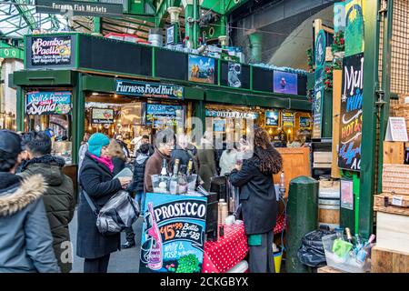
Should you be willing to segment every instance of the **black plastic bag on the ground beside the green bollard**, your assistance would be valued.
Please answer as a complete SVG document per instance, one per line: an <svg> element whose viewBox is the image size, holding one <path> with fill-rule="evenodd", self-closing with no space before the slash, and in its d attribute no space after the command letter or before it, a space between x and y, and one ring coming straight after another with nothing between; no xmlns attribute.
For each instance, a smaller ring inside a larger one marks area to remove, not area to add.
<svg viewBox="0 0 409 291"><path fill-rule="evenodd" d="M300 262L312 267L325 266L326 259L322 238L334 233L334 231L319 229L303 236L302 245L297 253Z"/></svg>

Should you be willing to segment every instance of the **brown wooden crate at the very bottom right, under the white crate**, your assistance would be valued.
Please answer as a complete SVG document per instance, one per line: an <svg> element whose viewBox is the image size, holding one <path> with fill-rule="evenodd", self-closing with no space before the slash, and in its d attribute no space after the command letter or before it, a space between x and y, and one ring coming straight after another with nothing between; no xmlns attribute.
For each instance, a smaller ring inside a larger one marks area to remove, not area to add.
<svg viewBox="0 0 409 291"><path fill-rule="evenodd" d="M371 254L371 272L409 273L409 253L374 246Z"/></svg>

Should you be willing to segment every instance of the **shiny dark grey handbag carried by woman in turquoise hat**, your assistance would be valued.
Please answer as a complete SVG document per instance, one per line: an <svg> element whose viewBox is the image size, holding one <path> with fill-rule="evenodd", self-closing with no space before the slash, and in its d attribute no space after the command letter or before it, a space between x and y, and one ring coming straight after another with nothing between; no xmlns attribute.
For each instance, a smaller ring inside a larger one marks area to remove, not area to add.
<svg viewBox="0 0 409 291"><path fill-rule="evenodd" d="M96 216L96 227L104 236L113 236L131 227L140 214L138 203L125 190L118 191L97 210L95 203L83 190L85 200Z"/></svg>

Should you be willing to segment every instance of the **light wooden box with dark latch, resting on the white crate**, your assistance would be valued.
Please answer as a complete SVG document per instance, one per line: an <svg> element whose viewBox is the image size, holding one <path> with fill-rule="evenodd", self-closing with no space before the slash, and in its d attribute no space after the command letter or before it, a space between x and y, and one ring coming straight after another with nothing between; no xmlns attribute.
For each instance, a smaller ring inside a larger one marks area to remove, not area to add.
<svg viewBox="0 0 409 291"><path fill-rule="evenodd" d="M374 196L374 211L409 216L409 196L383 193Z"/></svg>

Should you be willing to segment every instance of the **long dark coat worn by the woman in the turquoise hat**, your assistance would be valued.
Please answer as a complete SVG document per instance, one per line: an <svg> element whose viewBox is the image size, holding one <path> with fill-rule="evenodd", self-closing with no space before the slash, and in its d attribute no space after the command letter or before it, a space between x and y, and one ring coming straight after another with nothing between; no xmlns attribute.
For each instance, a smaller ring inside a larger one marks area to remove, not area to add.
<svg viewBox="0 0 409 291"><path fill-rule="evenodd" d="M122 189L119 180L113 180L113 177L105 165L95 161L89 153L85 154L80 183L98 209L101 209L116 192ZM76 255L97 258L113 253L120 247L120 234L114 236L100 234L96 228L96 216L86 202L84 194L81 193L78 206Z"/></svg>

